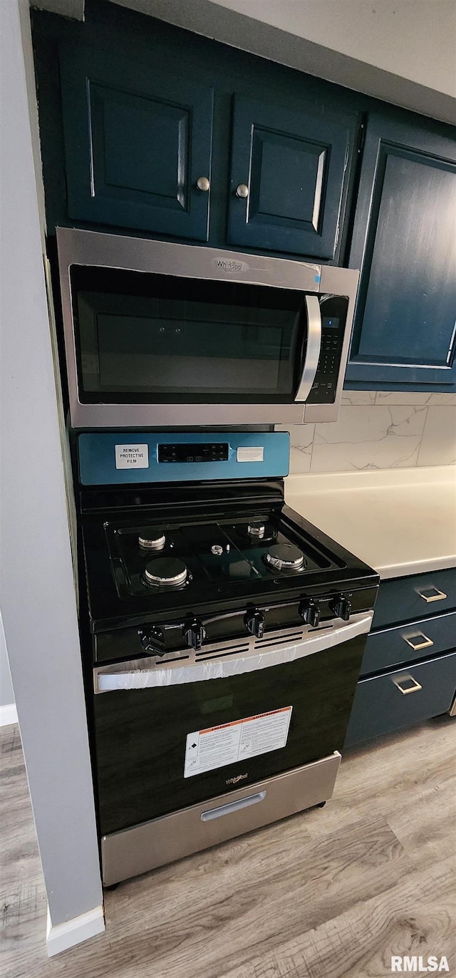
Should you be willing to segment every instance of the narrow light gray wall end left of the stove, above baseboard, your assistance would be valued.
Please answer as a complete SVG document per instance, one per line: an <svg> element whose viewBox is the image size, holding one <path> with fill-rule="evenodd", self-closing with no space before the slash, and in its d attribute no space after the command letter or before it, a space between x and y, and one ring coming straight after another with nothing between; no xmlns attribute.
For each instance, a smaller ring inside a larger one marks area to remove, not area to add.
<svg viewBox="0 0 456 978"><path fill-rule="evenodd" d="M57 925L99 907L102 890L33 166L35 105L34 151L28 114L27 0L2 0L0 17L0 607Z"/></svg>

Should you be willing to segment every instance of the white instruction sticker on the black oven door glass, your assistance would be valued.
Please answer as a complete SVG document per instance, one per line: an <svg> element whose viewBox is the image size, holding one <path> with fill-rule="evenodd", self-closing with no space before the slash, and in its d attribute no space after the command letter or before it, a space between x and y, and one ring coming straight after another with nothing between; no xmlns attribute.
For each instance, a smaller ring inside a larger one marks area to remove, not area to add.
<svg viewBox="0 0 456 978"><path fill-rule="evenodd" d="M285 747L293 706L187 735L184 778Z"/></svg>

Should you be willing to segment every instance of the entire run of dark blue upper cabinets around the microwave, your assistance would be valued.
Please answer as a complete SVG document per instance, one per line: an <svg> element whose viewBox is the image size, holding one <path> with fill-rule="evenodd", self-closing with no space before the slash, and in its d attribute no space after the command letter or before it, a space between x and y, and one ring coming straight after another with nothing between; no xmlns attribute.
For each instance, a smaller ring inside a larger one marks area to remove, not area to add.
<svg viewBox="0 0 456 978"><path fill-rule="evenodd" d="M51 238L360 268L345 386L456 391L450 126L100 0L32 25Z"/></svg>

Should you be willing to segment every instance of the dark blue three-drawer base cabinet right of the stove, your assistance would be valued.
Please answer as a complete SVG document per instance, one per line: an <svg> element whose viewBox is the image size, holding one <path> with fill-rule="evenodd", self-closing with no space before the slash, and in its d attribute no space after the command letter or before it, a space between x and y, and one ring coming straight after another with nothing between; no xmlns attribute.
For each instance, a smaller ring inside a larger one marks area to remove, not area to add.
<svg viewBox="0 0 456 978"><path fill-rule="evenodd" d="M382 583L345 746L448 712L455 689L456 569Z"/></svg>

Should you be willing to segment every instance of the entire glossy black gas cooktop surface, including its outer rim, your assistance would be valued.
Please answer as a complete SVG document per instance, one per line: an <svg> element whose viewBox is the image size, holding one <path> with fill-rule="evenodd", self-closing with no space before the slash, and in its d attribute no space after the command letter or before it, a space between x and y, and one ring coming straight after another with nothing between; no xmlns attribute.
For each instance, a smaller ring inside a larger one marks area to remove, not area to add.
<svg viewBox="0 0 456 978"><path fill-rule="evenodd" d="M149 489L86 495L92 632L372 584L370 567L286 505L283 483L254 488L199 487L198 502L182 487L166 499Z"/></svg>

